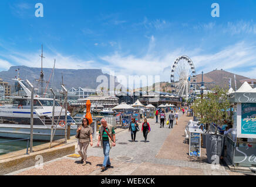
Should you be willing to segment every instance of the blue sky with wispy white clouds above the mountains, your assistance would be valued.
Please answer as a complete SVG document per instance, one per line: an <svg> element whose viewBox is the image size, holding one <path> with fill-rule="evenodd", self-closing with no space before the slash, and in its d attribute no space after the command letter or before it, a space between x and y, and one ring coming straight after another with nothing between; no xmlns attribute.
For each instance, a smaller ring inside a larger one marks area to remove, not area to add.
<svg viewBox="0 0 256 187"><path fill-rule="evenodd" d="M35 4L43 4L43 18ZM211 17L211 4L220 18ZM11 65L101 68L169 81L178 56L196 71L256 78L256 1L1 0L0 71Z"/></svg>

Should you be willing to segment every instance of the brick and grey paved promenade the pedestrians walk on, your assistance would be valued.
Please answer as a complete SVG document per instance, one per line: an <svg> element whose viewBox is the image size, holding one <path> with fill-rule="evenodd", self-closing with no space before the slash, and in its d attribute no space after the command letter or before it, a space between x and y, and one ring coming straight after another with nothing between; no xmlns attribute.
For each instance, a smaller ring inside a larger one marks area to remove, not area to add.
<svg viewBox="0 0 256 187"><path fill-rule="evenodd" d="M212 169L206 161L205 149L201 150L201 158L188 156L188 144L183 140L184 126L189 119L191 117L180 116L173 129L166 124L160 128L155 119L148 119L151 132L146 143L141 131L137 132L135 142L130 141L128 130L120 131L116 134L116 147L110 151L112 167L105 172L100 171L103 150L95 142L87 150L86 165L77 164L80 158L63 157L45 163L43 169L32 167L12 175L240 175L222 165Z"/></svg>

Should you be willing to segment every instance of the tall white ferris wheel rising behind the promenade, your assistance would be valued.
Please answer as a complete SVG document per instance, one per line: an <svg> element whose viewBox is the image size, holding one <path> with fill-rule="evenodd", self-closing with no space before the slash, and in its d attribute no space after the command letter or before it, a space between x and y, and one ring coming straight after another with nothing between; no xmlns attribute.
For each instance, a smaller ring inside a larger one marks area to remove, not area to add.
<svg viewBox="0 0 256 187"><path fill-rule="evenodd" d="M171 66L171 88L178 96L186 97L196 90L196 69L193 61L187 56L181 56Z"/></svg>

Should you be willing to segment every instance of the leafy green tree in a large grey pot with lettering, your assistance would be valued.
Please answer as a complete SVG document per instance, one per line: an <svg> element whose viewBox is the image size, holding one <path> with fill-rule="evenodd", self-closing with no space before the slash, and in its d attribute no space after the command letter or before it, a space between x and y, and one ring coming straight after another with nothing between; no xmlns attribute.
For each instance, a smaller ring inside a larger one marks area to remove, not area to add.
<svg viewBox="0 0 256 187"><path fill-rule="evenodd" d="M204 143L209 163L221 157L224 138L217 133L217 127L222 126L224 120L228 119L230 103L226 93L225 89L215 87L212 93L207 93L203 99L197 99L193 105L194 113L200 116L201 123L207 124ZM215 132L209 133L209 126L212 124L215 124Z"/></svg>

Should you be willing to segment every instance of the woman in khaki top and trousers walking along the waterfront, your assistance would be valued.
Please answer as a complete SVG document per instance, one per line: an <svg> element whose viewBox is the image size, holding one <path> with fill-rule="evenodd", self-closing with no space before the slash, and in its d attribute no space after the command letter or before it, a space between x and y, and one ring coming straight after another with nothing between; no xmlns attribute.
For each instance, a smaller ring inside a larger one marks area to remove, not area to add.
<svg viewBox="0 0 256 187"><path fill-rule="evenodd" d="M76 130L76 137L79 138L78 140L78 153L81 156L80 164L83 164L83 161L85 161L86 164L86 158L87 158L87 148L90 144L90 146L93 145L92 143L92 127L89 126L89 120L87 118L83 118L82 124L78 127L78 130Z"/></svg>

